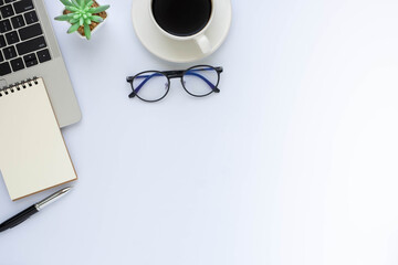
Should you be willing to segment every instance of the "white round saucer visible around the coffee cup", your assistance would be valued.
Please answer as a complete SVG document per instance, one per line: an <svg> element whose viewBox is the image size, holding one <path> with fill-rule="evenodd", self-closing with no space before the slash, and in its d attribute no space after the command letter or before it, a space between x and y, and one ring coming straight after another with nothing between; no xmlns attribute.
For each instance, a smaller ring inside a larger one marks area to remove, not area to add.
<svg viewBox="0 0 398 265"><path fill-rule="evenodd" d="M161 34L150 19L150 0L133 2L133 25L143 45L163 60L174 63L201 60L216 52L228 35L232 18L231 0L213 1L213 10L217 13L214 13L212 24L206 31L206 35L212 44L212 50L208 54L202 54L195 41L176 41Z"/></svg>

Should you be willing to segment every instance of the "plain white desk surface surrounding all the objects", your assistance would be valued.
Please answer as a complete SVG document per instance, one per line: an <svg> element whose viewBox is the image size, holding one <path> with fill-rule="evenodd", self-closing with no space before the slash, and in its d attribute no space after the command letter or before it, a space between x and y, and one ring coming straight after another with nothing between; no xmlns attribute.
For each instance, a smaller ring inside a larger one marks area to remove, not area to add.
<svg viewBox="0 0 398 265"><path fill-rule="evenodd" d="M46 0L51 17L59 1ZM128 99L149 54L112 4L91 42L53 22L83 112L72 193L0 235L0 264L398 263L398 2L232 0L221 93ZM53 191L53 190L52 190ZM51 191L11 202L0 220Z"/></svg>

